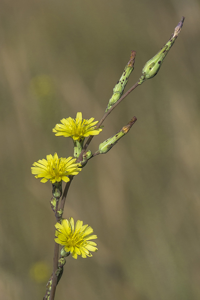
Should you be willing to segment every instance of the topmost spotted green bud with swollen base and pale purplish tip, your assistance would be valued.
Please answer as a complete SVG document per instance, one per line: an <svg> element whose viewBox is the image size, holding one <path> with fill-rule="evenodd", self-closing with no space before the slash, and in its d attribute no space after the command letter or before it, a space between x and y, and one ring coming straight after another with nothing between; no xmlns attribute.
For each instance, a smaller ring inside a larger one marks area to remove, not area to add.
<svg viewBox="0 0 200 300"><path fill-rule="evenodd" d="M142 76L139 79L138 84L142 84L145 80L153 78L158 73L165 56L167 55L171 46L174 44L176 38L178 37L178 33L181 31L184 19L184 17L181 18L181 21L176 26L175 31L172 34L170 40L161 48L161 50L152 59L146 62L142 69Z"/></svg>

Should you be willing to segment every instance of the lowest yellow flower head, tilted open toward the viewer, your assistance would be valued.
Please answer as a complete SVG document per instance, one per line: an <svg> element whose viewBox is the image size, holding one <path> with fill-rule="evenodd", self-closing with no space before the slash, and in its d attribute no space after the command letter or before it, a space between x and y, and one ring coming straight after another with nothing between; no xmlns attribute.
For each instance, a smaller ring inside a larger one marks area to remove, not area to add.
<svg viewBox="0 0 200 300"><path fill-rule="evenodd" d="M91 234L93 229L88 225L83 225L83 221L78 220L74 228L74 219L69 218L56 223L55 242L64 246L65 252L71 252L72 257L77 259L78 255L83 258L92 256L89 251L96 252L97 244L90 239L97 238L95 234Z"/></svg>

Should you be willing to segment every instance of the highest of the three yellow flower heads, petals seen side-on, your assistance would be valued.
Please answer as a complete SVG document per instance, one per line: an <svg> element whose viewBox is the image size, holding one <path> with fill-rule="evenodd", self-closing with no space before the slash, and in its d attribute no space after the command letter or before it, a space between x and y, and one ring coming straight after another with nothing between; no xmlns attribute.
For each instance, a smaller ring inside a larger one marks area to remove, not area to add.
<svg viewBox="0 0 200 300"><path fill-rule="evenodd" d="M73 140L78 140L81 137L89 137L89 135L97 135L102 129L95 129L96 126L94 125L99 121L93 121L94 118L90 118L89 120L83 119L82 122L82 113L77 113L76 119L69 117L60 120L62 124L56 124L53 132L56 132L56 136L63 135L64 137L71 137Z"/></svg>

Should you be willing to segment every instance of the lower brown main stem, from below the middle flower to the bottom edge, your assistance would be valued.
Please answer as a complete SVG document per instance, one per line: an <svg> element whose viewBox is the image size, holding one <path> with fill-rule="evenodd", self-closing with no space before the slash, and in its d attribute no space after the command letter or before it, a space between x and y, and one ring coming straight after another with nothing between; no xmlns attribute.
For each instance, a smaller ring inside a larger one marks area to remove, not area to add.
<svg viewBox="0 0 200 300"><path fill-rule="evenodd" d="M74 178L73 175L69 176L69 181L65 185L65 189L64 189L64 192L62 194L62 199L61 199L61 202L60 202L60 208L62 210L64 208L67 193L68 193L68 190L69 190L69 187L70 187L70 184L71 184L73 178ZM61 220L59 220L58 223L61 223ZM54 300L54 297L55 297L57 279L58 279L55 273L56 273L57 268L58 268L58 257L59 257L59 244L57 244L55 242L55 244L54 244L53 279L52 279L52 284L51 284L51 292L50 292L49 300Z"/></svg>

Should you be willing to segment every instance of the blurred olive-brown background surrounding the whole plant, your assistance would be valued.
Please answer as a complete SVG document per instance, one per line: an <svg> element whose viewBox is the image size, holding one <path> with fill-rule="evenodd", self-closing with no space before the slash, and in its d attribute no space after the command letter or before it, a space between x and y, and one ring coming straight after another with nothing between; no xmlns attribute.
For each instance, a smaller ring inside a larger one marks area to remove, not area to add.
<svg viewBox="0 0 200 300"><path fill-rule="evenodd" d="M200 2L1 0L0 299L42 299L53 267L50 182L34 161L73 155L60 119L100 120L136 50L135 69L181 33L157 76L109 115L89 149L137 122L71 184L64 217L97 234L92 258L67 258L55 299L200 298ZM125 90L125 91L126 91Z"/></svg>

